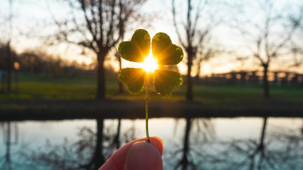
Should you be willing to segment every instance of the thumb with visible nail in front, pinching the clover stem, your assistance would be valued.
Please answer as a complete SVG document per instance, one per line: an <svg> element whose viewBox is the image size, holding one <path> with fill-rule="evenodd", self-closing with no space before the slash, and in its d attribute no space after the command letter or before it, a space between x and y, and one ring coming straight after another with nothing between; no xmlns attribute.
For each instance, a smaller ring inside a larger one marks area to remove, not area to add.
<svg viewBox="0 0 303 170"><path fill-rule="evenodd" d="M148 142L136 142L129 149L124 170L163 170L159 151Z"/></svg>

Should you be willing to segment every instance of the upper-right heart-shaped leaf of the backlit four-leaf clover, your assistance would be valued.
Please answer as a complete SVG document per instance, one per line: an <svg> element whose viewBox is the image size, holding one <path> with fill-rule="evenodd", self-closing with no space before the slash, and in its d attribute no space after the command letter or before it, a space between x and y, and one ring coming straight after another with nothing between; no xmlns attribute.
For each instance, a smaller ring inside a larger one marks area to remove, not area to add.
<svg viewBox="0 0 303 170"><path fill-rule="evenodd" d="M172 44L170 37L163 32L157 33L152 38L151 49L160 65L176 65L183 59L182 49Z"/></svg>

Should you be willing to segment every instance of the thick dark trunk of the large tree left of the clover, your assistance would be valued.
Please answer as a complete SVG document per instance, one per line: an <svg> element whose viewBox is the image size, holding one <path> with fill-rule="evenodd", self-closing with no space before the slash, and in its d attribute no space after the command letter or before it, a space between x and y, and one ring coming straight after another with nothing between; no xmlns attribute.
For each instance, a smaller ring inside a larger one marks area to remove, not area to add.
<svg viewBox="0 0 303 170"><path fill-rule="evenodd" d="M104 60L108 50L101 50L97 53L98 69L97 69L97 100L105 99L105 69Z"/></svg>

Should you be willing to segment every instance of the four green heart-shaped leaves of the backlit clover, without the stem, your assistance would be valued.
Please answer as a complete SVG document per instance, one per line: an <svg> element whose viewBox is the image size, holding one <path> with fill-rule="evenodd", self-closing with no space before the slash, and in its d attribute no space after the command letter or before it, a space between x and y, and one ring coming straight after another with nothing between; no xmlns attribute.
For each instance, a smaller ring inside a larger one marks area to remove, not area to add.
<svg viewBox="0 0 303 170"><path fill-rule="evenodd" d="M151 41L148 32L144 29L136 30L131 41L120 43L118 52L125 60L143 63L149 54L150 45L153 57L159 65L176 65L183 59L182 49L172 44L167 34L159 32ZM124 68L118 72L118 79L127 85L129 93L136 95L142 92L147 74L149 73L143 68ZM182 83L183 77L176 71L154 70L154 88L163 98L171 96L173 89L180 87Z"/></svg>

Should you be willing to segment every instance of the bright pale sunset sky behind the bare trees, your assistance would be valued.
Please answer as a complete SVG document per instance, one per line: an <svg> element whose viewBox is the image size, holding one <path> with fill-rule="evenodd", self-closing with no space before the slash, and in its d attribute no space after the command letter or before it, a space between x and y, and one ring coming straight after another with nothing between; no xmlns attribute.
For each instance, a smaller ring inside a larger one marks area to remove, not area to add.
<svg viewBox="0 0 303 170"><path fill-rule="evenodd" d="M251 1L248 0L221 0L224 2L224 5L216 5L215 8L209 8L204 13L201 18L203 20L198 22L198 28L205 28L210 21L208 18L208 14L211 11L216 11L217 14L220 14L222 18L224 18L217 27L211 30L211 42L212 44L218 45L218 47L224 48L226 51L233 51L233 54L236 53L241 54L243 56L249 54L247 50L247 44L245 40L243 40L241 34L238 30L231 28L233 24L233 14L234 9L231 8L233 4L244 4L245 16L247 18L253 18L254 20L261 21L264 19L264 16L256 14L256 9L254 5L248 5ZM54 55L60 55L62 58L68 60L76 60L79 63L85 62L87 64L96 60L96 57L89 53L86 55L82 55L82 49L70 45L70 44L58 44L56 46L49 47L43 41L41 41L41 37L45 34L50 34L57 30L56 26L53 25L52 15L54 14L55 18L62 18L62 16L66 15L68 11L67 5L62 5L60 1L53 0L14 0L12 11L13 11L13 29L12 31L12 45L15 47L15 50L21 53L25 49L43 49L48 51L48 53ZM178 21L184 21L186 15L186 5L185 1L176 0L176 10L178 14ZM8 0L0 0L0 23L3 23L5 17L8 16ZM222 3L223 4L223 3ZM227 5L226 5L227 4ZM303 3L299 0L279 0L276 1L275 11L296 11L297 7L302 5ZM196 3L193 1L193 8L195 8ZM274 12L275 12L274 11ZM175 32L175 28L173 26L172 14L171 14L171 1L170 0L148 0L145 5L141 8L140 12L145 13L147 16L155 15L151 19L151 27L145 27L144 25L136 25L136 28L131 28L125 35L125 41L129 40L135 31L135 29L143 28L146 29L151 38L157 32L165 32L171 37L173 44L177 44L180 46L180 43L177 38L177 34ZM82 14L77 14L81 17ZM238 14L236 14L238 15ZM221 18L220 16L220 18ZM46 26L45 26L46 25ZM244 25L243 25L244 27ZM0 31L2 32L3 37L4 34L8 34L8 26L6 24L2 24L0 26ZM273 26L272 31L279 31L278 27ZM252 28L247 27L248 30L252 31ZM301 34L302 35L302 34ZM1 40L1 39L0 39ZM3 38L2 38L3 41ZM299 40L300 41L300 40ZM208 44L207 44L208 45ZM251 45L251 44L249 44ZM254 45L254 44L252 44ZM184 49L183 49L184 50ZM254 58L251 60L245 61L236 61L235 55L222 53L217 57L203 63L200 76L212 74L212 73L224 73L233 70L261 70L259 67L258 60ZM186 54L185 54L186 57ZM285 55L285 57L281 57L279 60L276 60L272 65L270 65L271 70L297 70L302 72L301 68L292 68L286 67L285 61L291 60L292 56ZM108 63L114 65L116 69L118 69L118 62L114 60L109 60ZM288 64L291 65L291 64ZM132 67L134 64L123 61L123 67ZM181 74L186 74L186 59L178 64L178 68ZM193 68L192 75L194 76L195 68Z"/></svg>

